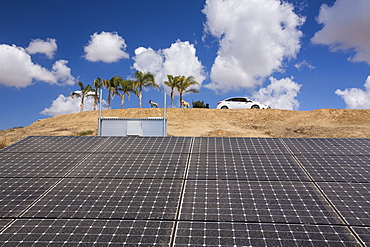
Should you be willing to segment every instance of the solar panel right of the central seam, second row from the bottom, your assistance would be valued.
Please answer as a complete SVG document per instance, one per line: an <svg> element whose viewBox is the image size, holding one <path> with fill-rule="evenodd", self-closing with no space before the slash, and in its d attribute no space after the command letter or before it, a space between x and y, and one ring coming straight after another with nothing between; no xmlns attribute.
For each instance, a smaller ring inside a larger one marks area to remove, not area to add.
<svg viewBox="0 0 370 247"><path fill-rule="evenodd" d="M181 220L341 224L310 183L187 181Z"/></svg>

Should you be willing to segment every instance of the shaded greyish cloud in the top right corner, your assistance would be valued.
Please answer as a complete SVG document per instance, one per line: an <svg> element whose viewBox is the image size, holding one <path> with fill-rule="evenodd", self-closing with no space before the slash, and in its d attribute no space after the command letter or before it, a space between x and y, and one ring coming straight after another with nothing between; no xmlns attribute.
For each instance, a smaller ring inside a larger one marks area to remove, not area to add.
<svg viewBox="0 0 370 247"><path fill-rule="evenodd" d="M355 52L349 60L370 64L370 1L337 0L323 4L317 21L324 27L311 41L330 46L332 51Z"/></svg>

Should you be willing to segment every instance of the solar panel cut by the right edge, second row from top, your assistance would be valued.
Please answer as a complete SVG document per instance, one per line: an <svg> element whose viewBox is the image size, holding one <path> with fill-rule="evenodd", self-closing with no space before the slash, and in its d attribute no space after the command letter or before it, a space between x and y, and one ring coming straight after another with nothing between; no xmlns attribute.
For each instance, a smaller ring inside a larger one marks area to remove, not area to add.
<svg viewBox="0 0 370 247"><path fill-rule="evenodd" d="M297 155L314 181L370 182L369 156Z"/></svg>

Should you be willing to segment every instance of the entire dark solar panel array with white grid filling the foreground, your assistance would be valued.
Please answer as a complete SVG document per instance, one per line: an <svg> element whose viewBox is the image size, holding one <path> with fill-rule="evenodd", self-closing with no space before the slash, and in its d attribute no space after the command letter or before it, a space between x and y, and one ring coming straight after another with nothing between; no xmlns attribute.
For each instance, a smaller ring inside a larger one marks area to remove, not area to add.
<svg viewBox="0 0 370 247"><path fill-rule="evenodd" d="M370 139L27 137L0 245L370 246Z"/></svg>

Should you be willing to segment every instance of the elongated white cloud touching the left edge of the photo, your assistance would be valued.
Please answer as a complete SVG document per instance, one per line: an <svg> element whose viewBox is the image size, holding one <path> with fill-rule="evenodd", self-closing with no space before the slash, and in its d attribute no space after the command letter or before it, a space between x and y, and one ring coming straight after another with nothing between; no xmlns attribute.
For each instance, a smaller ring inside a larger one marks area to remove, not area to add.
<svg viewBox="0 0 370 247"><path fill-rule="evenodd" d="M75 78L66 64L67 61L59 60L48 70L33 63L26 49L0 44L0 84L5 86L22 88L32 85L33 81L72 85Z"/></svg>

